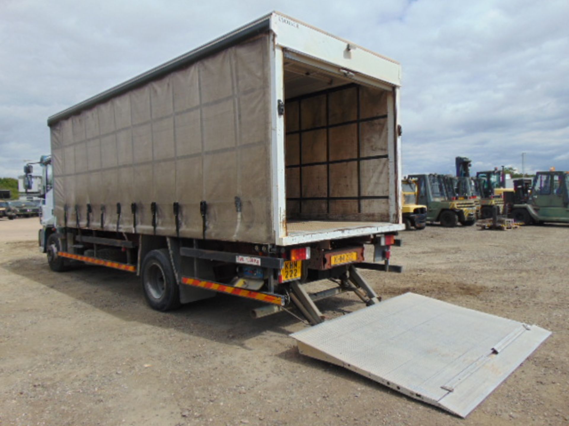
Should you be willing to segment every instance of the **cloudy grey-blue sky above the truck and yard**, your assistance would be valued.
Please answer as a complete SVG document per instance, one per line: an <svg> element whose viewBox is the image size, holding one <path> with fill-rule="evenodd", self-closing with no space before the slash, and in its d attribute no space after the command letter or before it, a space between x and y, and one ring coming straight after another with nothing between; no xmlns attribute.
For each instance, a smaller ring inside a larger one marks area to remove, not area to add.
<svg viewBox="0 0 569 426"><path fill-rule="evenodd" d="M569 170L567 0L0 0L0 177L49 115L271 10L401 62L404 173Z"/></svg>

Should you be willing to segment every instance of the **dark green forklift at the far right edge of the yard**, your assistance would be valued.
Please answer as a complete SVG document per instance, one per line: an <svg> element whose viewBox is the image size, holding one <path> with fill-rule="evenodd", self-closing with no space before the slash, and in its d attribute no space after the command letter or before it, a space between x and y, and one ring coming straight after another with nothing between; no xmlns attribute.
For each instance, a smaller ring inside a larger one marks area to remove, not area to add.
<svg viewBox="0 0 569 426"><path fill-rule="evenodd" d="M514 204L514 222L569 223L569 172L537 172L527 202Z"/></svg>

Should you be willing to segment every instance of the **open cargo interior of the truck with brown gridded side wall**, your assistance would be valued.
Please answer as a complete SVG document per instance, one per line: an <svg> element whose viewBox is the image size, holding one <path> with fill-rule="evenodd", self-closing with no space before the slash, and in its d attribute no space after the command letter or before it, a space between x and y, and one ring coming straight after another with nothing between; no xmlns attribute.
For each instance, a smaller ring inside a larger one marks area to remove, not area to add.
<svg viewBox="0 0 569 426"><path fill-rule="evenodd" d="M397 153L389 149L397 146L391 92L286 56L283 240L306 241L332 227L345 233L389 227L396 164L389 159Z"/></svg>

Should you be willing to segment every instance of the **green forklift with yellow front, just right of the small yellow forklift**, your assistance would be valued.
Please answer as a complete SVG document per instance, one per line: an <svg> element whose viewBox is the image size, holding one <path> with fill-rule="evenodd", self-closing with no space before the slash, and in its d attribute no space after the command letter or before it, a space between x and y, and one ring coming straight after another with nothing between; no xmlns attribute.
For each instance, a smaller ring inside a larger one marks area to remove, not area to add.
<svg viewBox="0 0 569 426"><path fill-rule="evenodd" d="M447 228L458 223L472 226L476 223L476 205L472 199L459 200L451 190L448 178L442 174L411 174L417 182L417 203L427 206L427 222L439 222Z"/></svg>

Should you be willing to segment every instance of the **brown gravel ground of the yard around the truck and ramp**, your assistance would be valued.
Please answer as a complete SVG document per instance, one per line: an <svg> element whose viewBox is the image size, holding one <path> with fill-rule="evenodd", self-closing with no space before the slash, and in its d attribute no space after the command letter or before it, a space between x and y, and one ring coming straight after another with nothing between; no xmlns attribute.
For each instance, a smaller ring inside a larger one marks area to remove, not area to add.
<svg viewBox="0 0 569 426"><path fill-rule="evenodd" d="M0 220L1 425L569 424L569 227L402 233L393 264L365 272L406 291L553 332L467 419L303 357L287 314L218 296L161 314L136 277L97 266L53 273L38 219ZM330 316L353 296L321 302Z"/></svg>

